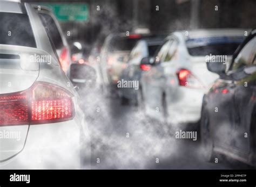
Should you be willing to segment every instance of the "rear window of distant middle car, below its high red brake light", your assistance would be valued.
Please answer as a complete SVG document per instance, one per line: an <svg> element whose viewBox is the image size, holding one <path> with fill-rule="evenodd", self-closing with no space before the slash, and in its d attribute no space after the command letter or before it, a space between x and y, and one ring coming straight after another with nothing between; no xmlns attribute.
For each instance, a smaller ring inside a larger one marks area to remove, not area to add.
<svg viewBox="0 0 256 187"><path fill-rule="evenodd" d="M107 51L131 51L138 40L138 38L114 37L110 40Z"/></svg>

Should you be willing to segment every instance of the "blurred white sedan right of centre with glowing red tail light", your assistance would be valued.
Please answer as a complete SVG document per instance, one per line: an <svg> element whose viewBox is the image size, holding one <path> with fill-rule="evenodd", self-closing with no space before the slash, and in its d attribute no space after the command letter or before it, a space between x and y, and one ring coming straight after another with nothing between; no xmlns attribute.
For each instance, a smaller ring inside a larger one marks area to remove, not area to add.
<svg viewBox="0 0 256 187"><path fill-rule="evenodd" d="M223 57L228 61L246 30L194 30L170 34L146 66L141 78L140 102L145 112L173 124L197 123L205 91L217 74L206 61ZM218 56L217 56L218 55ZM224 55L224 56L223 56Z"/></svg>

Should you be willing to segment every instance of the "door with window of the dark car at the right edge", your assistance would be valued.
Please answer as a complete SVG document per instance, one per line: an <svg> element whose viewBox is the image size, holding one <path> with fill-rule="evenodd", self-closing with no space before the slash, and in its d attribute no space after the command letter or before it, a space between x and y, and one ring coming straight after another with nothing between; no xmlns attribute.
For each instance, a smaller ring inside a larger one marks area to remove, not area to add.
<svg viewBox="0 0 256 187"><path fill-rule="evenodd" d="M233 141L235 149L244 153L250 152L252 134L253 110L255 110L256 96L256 37L245 44L232 64L234 78L234 103L236 121ZM255 112L255 111L254 111ZM255 139L254 139L255 140Z"/></svg>

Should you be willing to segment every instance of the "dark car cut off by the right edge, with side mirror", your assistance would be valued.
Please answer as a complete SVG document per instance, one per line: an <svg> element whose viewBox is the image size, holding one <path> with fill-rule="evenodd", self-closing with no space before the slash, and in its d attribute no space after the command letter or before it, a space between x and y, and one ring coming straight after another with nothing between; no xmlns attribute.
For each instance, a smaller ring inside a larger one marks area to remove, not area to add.
<svg viewBox="0 0 256 187"><path fill-rule="evenodd" d="M204 95L201 113L201 140L207 160L224 154L247 164L256 164L256 30L242 42L232 61L207 63L218 73Z"/></svg>

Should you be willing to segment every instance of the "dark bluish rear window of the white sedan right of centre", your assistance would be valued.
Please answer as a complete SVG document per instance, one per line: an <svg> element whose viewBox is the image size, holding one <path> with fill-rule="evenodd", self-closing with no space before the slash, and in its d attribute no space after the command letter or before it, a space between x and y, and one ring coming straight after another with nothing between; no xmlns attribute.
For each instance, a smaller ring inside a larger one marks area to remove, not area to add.
<svg viewBox="0 0 256 187"><path fill-rule="evenodd" d="M188 39L186 46L191 56L232 55L244 37L213 37Z"/></svg>

